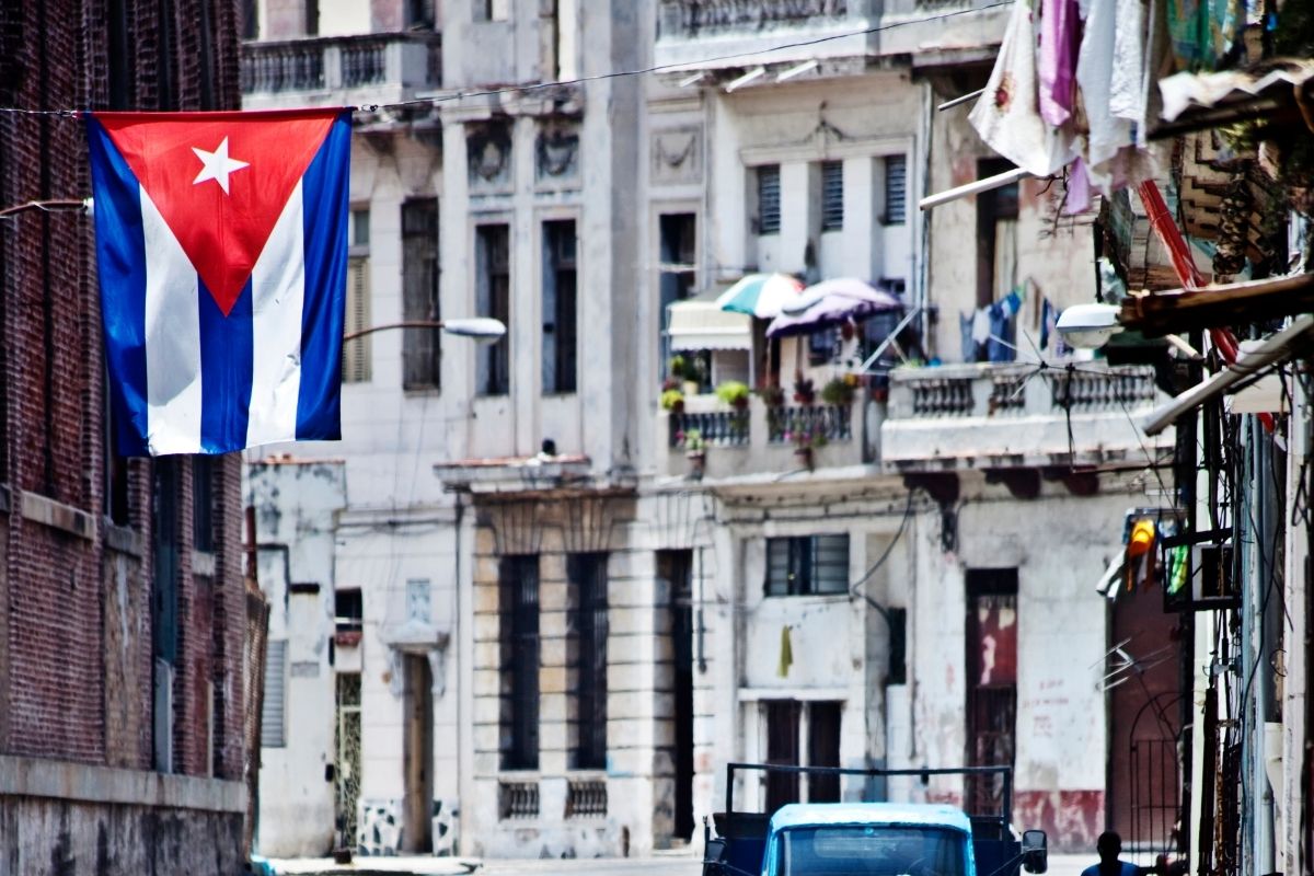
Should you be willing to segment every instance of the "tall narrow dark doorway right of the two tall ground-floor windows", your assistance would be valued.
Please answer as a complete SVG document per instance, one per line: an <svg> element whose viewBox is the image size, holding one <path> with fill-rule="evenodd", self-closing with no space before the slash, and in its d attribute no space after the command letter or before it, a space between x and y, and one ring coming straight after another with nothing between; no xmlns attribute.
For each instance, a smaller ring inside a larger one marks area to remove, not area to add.
<svg viewBox="0 0 1314 876"><path fill-rule="evenodd" d="M673 839L694 837L694 577L691 550L657 554L657 577L670 587L671 693L675 750Z"/></svg>

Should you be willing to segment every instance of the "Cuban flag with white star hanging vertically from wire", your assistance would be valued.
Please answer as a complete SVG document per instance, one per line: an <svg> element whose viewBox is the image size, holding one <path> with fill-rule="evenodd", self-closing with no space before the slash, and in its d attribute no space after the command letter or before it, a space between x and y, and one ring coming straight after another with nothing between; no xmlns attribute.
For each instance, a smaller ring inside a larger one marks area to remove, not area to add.
<svg viewBox="0 0 1314 876"><path fill-rule="evenodd" d="M350 110L88 113L125 456L342 437Z"/></svg>

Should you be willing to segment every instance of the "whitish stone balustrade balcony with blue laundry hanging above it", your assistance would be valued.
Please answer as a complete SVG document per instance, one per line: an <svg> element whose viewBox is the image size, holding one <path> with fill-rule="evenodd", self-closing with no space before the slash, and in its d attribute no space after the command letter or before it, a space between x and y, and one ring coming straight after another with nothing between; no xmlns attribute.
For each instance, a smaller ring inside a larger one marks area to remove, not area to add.
<svg viewBox="0 0 1314 876"><path fill-rule="evenodd" d="M1168 398L1148 366L942 365L890 377L880 447L892 471L1141 466L1172 453L1171 435L1137 426Z"/></svg>

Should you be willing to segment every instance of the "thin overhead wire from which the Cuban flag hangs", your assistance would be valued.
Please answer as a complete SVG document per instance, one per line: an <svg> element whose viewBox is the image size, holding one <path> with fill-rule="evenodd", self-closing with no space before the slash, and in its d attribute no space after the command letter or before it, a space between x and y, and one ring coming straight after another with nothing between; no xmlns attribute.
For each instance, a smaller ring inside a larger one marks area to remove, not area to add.
<svg viewBox="0 0 1314 876"><path fill-rule="evenodd" d="M675 72L675 71L689 71L691 68L699 67L702 64L710 64L723 60L738 60L738 59L752 59L761 55L769 55L777 51L783 51L786 49L807 49L808 46L819 46L825 42L833 42L836 39L849 39L851 37L863 37L874 33L882 33L886 30L892 30L895 28L907 28L909 25L928 24L932 21L942 21L945 18L954 18L958 16L975 14L979 12L987 12L989 9L996 9L1000 7L1010 7L1013 0L999 0L997 3L989 3L982 7L974 7L970 9L954 9L950 12L942 12L934 16L922 16L920 18L907 18L903 21L892 21L884 25L875 25L871 28L861 28L855 30L846 30L844 33L829 34L825 37L813 37L811 39L798 39L794 42L782 42L766 46L763 49L756 49L753 51L736 51L725 55L711 55L708 58L700 58L698 60L683 60L678 63L668 64L650 64L648 67L636 67L632 70L612 70L604 74L593 74L589 76L577 76L574 79L561 79L549 83L524 83L520 85L505 85L501 88L487 88L478 91L457 91L457 92L436 92L434 95L426 95L422 97L414 97L411 100L402 100L389 104L360 104L353 105L350 109L363 113L374 113L384 109L401 109L403 106L418 106L418 105L432 105L432 104L445 104L452 101L466 100L470 97L493 97L498 95L518 95L524 92L548 91L553 88L564 88L569 85L581 85L583 83L602 81L607 79L622 79L627 76L645 76L649 74L660 72ZM0 113L17 113L24 116L57 116L63 118L78 118L81 116L83 110L79 109L29 109L22 106L0 106Z"/></svg>

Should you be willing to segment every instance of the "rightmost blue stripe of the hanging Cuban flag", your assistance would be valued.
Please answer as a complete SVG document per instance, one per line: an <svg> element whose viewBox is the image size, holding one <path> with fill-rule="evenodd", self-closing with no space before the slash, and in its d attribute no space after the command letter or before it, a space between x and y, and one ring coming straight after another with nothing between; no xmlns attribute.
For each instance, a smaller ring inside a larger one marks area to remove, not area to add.
<svg viewBox="0 0 1314 876"><path fill-rule="evenodd" d="M297 440L342 437L342 322L347 289L351 113L340 114L302 177L306 290Z"/></svg>

